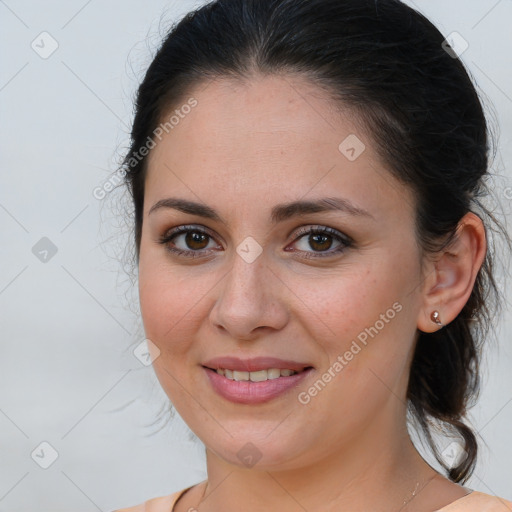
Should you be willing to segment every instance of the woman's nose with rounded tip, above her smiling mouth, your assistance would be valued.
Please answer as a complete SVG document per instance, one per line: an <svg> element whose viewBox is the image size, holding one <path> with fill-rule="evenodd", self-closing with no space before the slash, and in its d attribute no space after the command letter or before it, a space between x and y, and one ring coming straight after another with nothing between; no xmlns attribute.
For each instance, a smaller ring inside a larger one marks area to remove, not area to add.
<svg viewBox="0 0 512 512"><path fill-rule="evenodd" d="M253 340L288 322L290 293L264 253L252 262L234 254L233 265L216 287L212 325L237 340ZM268 332L267 332L268 331Z"/></svg>

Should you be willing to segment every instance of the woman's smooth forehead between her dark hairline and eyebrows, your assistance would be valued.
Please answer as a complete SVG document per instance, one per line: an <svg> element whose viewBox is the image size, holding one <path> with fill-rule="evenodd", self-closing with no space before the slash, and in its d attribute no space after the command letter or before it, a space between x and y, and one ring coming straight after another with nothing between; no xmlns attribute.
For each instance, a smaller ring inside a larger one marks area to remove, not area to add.
<svg viewBox="0 0 512 512"><path fill-rule="evenodd" d="M188 104L195 106L184 108ZM403 186L384 169L355 116L305 79L203 83L173 105L173 114L172 129L155 139L149 155L146 195L152 200L179 190L206 203L229 196L240 206L339 191L356 204L375 203L377 215L388 206L386 197L389 205L404 201Z"/></svg>

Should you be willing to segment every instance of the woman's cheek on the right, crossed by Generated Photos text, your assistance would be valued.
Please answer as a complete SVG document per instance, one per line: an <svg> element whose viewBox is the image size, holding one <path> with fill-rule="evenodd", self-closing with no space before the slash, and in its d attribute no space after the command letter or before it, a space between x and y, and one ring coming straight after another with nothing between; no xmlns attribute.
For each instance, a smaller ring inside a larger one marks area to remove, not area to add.
<svg viewBox="0 0 512 512"><path fill-rule="evenodd" d="M396 278L391 259L347 272L342 278L317 281L303 289L309 308L305 322L323 349L322 372L331 371L339 386L364 395L372 383L393 387L401 378L411 349L415 323L410 276L402 266ZM411 269L412 270L412 269ZM388 275L395 278L389 280ZM329 378L328 376L326 378Z"/></svg>

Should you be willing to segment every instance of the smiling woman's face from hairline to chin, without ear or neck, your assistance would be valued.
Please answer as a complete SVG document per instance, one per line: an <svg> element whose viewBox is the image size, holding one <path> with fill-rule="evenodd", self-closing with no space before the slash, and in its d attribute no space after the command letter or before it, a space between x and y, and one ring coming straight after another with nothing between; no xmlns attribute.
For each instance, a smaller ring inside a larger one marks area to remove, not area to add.
<svg viewBox="0 0 512 512"><path fill-rule="evenodd" d="M144 196L140 302L166 394L241 467L395 432L421 308L412 194L305 81L219 80L192 97L154 137Z"/></svg>

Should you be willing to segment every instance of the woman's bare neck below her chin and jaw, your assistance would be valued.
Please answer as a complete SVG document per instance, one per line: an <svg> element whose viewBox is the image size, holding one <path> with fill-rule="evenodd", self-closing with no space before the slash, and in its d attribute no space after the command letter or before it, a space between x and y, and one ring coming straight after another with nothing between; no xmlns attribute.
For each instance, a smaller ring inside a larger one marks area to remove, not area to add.
<svg viewBox="0 0 512 512"><path fill-rule="evenodd" d="M234 512L243 504L244 512L405 512L404 501L420 510L418 490L436 474L414 448L405 418L402 428L372 421L357 437L337 447L324 443L322 449L325 453L317 459L306 454L302 460L307 463L292 461L286 469L258 464L240 468L207 450L208 484L201 510Z"/></svg>

